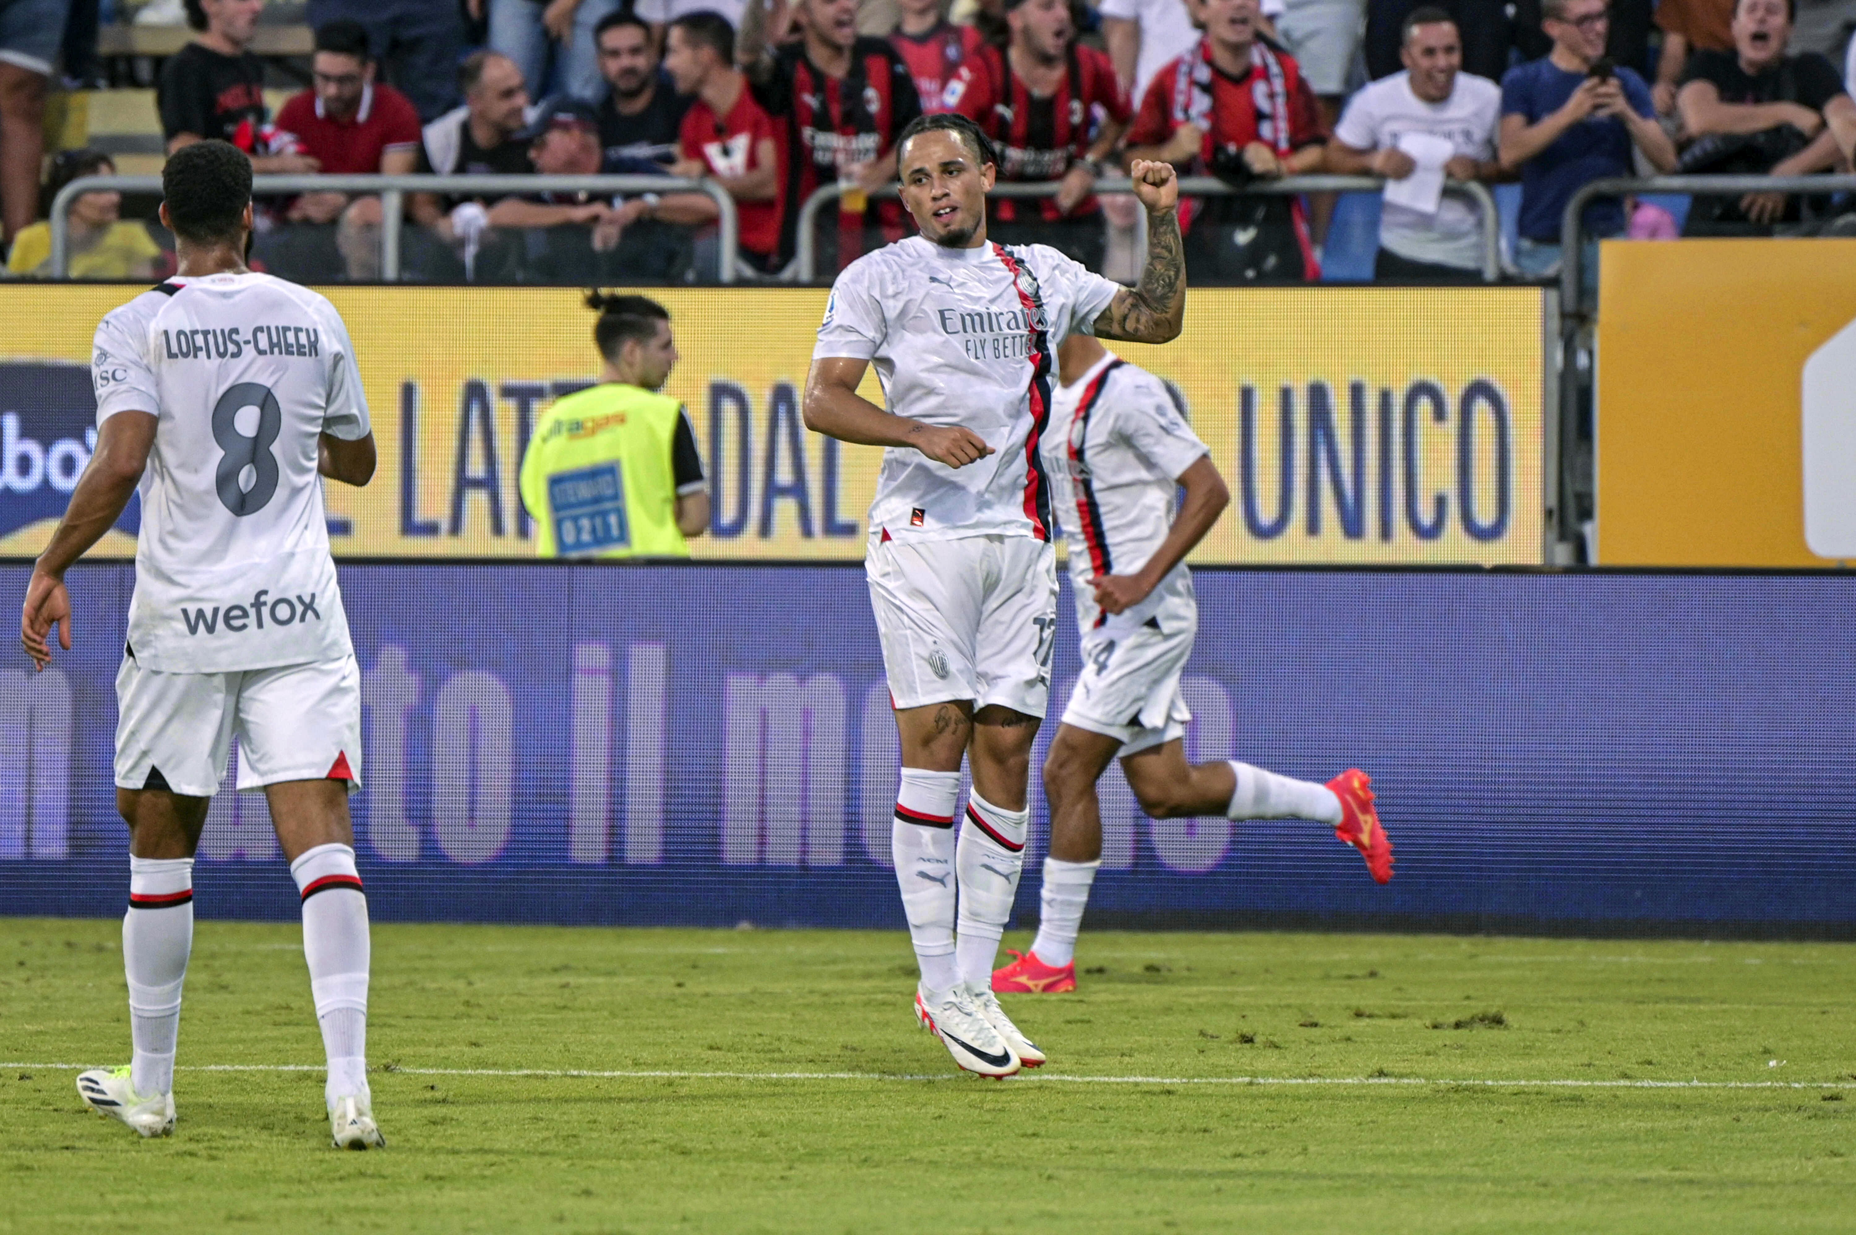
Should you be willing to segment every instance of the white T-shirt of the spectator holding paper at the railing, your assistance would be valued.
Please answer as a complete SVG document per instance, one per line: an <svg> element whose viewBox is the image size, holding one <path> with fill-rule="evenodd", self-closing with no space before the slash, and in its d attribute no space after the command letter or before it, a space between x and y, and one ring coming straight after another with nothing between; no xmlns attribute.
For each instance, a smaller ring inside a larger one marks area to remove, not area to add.
<svg viewBox="0 0 1856 1235"><path fill-rule="evenodd" d="M1502 117L1502 87L1489 78L1459 72L1444 102L1424 102L1411 93L1411 74L1394 72L1360 89L1334 124L1334 137L1355 150L1383 150L1398 145L1399 134L1433 134L1451 143L1451 158L1496 156L1496 124ZM1476 208L1461 197L1444 195L1437 214L1386 204L1379 215L1379 243L1412 262L1477 269L1483 241Z"/></svg>

